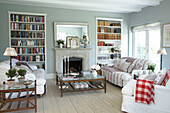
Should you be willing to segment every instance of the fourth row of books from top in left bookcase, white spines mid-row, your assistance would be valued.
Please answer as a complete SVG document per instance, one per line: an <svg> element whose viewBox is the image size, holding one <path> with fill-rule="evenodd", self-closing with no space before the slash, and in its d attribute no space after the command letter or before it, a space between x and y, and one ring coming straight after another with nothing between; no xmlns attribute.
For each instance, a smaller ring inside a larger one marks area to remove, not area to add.
<svg viewBox="0 0 170 113"><path fill-rule="evenodd" d="M11 40L12 46L44 46L44 40Z"/></svg>

